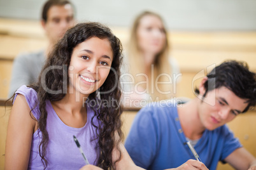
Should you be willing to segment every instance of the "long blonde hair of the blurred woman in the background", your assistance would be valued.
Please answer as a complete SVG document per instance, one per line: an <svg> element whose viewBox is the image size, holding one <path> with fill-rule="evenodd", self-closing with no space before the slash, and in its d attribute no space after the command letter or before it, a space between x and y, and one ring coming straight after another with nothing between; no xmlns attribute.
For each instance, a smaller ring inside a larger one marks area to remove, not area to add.
<svg viewBox="0 0 256 170"><path fill-rule="evenodd" d="M128 60L129 60L129 64L132 65L132 68L135 68L135 69L130 68L130 73L134 77L136 84L138 84L139 82L145 81L145 79L143 79L142 76L138 76L138 74L141 74L141 73L143 74L145 72L145 67L143 67L145 65L143 65L143 57L141 55L141 51L138 45L137 30L138 30L141 18L148 15L157 16L157 18L159 18L159 20L164 25L164 21L162 20L161 16L152 11L144 11L143 13L139 14L134 20L134 23L131 29L131 37L128 44L128 49L129 49ZM150 72L150 74L152 72L153 74L149 76L149 79L148 79L149 83L148 83L148 86L146 86L146 88L148 88L147 92L151 95L153 100L156 100L157 98L159 98L159 100L164 100L164 99L170 98L171 95L173 95L172 93L162 94L158 91L158 89L160 89L160 91L172 92L171 89L173 86L171 84L158 84L157 87L155 86L157 82L169 81L169 79L167 79L166 76L160 76L159 78L157 78L160 74L168 74L168 75L171 74L171 68L169 65L169 43L167 39L167 30L165 27L163 27L163 31L164 31L164 34L166 35L165 46L162 49L162 51L160 51L160 53L157 54L157 56L155 56L156 58L155 58L155 62L153 63L153 70L151 70ZM146 89L145 86L143 86L143 88Z"/></svg>

